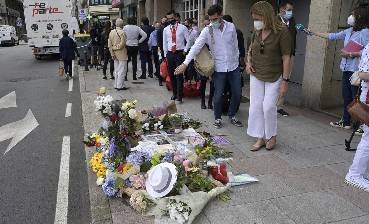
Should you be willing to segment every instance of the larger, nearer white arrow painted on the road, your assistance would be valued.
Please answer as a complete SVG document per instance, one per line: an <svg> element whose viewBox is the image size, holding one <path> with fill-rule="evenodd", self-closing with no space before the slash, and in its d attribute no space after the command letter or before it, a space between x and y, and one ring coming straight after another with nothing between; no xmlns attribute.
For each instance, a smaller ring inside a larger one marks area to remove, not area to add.
<svg viewBox="0 0 369 224"><path fill-rule="evenodd" d="M14 91L15 92L15 91ZM14 93L15 94L15 93ZM33 116L31 109L28 110L27 115L19 121L14 121L0 127L0 142L9 138L11 139L8 148L4 152L4 155L15 145L18 144L24 137L26 137L32 130L38 126L38 122Z"/></svg>

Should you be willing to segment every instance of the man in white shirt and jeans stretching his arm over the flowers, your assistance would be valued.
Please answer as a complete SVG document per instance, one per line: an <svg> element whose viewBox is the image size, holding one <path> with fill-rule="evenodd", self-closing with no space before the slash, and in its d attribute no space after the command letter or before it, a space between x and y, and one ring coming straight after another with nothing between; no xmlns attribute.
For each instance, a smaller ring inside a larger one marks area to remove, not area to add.
<svg viewBox="0 0 369 224"><path fill-rule="evenodd" d="M231 85L232 97L230 101L230 108L228 110L228 120L232 124L241 127L242 123L235 118L237 106L241 98L241 76L238 67L238 42L236 29L232 23L228 23L222 19L223 9L219 4L210 6L207 11L211 26L213 27L214 37L214 56L215 71L213 75L213 82L215 87L214 96L214 117L215 122L213 126L215 128L221 127L221 103L223 97L223 91L225 86L225 80L228 79ZM175 74L180 74L191 62L196 54L198 54L205 44L211 46L211 35L209 28L205 27L200 36L196 39L195 44L191 47L186 60L176 70Z"/></svg>

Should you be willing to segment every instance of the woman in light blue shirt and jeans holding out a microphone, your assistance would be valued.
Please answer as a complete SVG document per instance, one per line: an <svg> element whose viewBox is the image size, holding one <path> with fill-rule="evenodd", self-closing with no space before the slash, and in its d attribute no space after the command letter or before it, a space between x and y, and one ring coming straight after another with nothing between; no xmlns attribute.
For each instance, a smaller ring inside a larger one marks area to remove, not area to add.
<svg viewBox="0 0 369 224"><path fill-rule="evenodd" d="M350 40L356 41L363 46L366 46L369 42L369 12L368 7L359 6L352 11L350 17L347 18L347 23L352 25L352 27L341 31L339 33L322 33L316 32L314 30L306 29L307 32L311 34L323 37L330 41L338 41L341 39L345 39L346 46ZM358 52L348 52L341 51L342 61L339 68L341 68L342 74L342 97L344 98L344 116L340 121L331 122L330 125L333 127L351 128L351 115L347 112L346 107L352 102L355 98L356 92L358 92L358 86L353 86L350 83L350 77L352 74L358 70L359 61L362 55L363 49ZM353 57L353 58L352 58ZM352 58L352 59L351 59ZM356 135L363 134L363 127L361 126L358 131L355 133Z"/></svg>

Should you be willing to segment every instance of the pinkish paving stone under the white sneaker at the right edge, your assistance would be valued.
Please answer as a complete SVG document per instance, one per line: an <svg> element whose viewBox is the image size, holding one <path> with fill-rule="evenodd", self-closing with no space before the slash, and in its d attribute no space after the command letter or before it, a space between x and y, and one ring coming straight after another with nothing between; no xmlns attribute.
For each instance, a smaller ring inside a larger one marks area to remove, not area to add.
<svg viewBox="0 0 369 224"><path fill-rule="evenodd" d="M360 207L362 210L369 213L369 194L356 187L346 185L344 187L336 187L331 189L337 194L341 195L344 199L350 201L352 204ZM369 219L367 220L369 223Z"/></svg>

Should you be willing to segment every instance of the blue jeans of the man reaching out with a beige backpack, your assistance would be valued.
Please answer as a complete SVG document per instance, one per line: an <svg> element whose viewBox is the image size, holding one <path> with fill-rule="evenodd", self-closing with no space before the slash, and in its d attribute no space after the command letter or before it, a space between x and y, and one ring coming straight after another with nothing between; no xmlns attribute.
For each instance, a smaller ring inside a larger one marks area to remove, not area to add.
<svg viewBox="0 0 369 224"><path fill-rule="evenodd" d="M225 80L230 82L232 89L232 97L230 102L230 108L228 110L228 117L234 117L236 114L239 99L241 98L241 75L239 74L239 67L230 72L217 72L214 71L214 117L215 119L221 119L221 105L225 86Z"/></svg>

